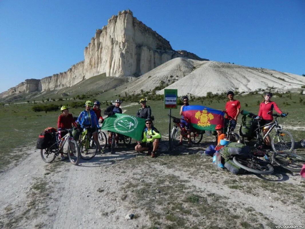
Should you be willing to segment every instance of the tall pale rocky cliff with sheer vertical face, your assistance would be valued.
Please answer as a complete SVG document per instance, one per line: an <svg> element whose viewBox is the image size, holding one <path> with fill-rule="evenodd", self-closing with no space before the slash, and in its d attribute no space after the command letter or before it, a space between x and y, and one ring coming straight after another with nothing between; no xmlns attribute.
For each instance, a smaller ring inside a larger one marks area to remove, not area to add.
<svg viewBox="0 0 305 229"><path fill-rule="evenodd" d="M95 32L84 49L84 60L66 72L41 80L26 80L0 94L0 98L32 91L58 90L81 82L95 75L139 76L176 57L199 58L184 50L175 51L170 43L156 31L147 27L123 10L108 20L108 24Z"/></svg>

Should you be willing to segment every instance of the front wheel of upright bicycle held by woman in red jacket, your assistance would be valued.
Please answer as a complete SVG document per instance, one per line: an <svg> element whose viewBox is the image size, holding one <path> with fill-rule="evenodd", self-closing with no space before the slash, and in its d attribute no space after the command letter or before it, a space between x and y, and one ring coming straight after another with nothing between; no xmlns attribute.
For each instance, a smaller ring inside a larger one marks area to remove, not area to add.
<svg viewBox="0 0 305 229"><path fill-rule="evenodd" d="M294 147L294 140L291 133L286 130L279 130L278 135L275 133L272 137L271 146L276 153L282 151L292 152Z"/></svg>

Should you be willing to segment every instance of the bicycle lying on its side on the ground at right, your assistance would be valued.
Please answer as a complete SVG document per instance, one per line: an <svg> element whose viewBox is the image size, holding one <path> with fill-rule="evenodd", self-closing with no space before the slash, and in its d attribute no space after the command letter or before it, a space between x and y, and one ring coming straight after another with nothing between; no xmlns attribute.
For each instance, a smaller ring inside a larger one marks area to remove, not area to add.
<svg viewBox="0 0 305 229"><path fill-rule="evenodd" d="M258 155L255 156L254 153ZM300 172L305 163L305 158L298 154L283 154L274 151L254 151L254 153L250 153L249 158L234 157L233 162L242 169L257 174L273 173L274 168L272 165L281 166L289 171ZM271 153L271 156L269 153ZM263 159L258 157L263 157Z"/></svg>

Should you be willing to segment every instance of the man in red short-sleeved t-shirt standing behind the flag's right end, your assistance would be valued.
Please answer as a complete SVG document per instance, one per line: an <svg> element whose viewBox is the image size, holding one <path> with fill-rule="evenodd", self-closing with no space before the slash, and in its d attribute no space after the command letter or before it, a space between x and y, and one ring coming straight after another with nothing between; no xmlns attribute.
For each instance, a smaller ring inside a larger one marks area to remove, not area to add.
<svg viewBox="0 0 305 229"><path fill-rule="evenodd" d="M234 93L228 91L227 93L229 101L226 103L225 109L227 118L229 119L231 131L236 127L237 118L240 112L240 102L234 99Z"/></svg>

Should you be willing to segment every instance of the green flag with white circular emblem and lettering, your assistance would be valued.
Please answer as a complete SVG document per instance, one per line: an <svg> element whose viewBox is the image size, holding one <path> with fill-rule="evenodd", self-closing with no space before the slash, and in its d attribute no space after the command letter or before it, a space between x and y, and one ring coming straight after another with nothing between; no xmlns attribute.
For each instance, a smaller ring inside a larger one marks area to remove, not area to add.
<svg viewBox="0 0 305 229"><path fill-rule="evenodd" d="M119 113L108 116L102 125L103 130L120 133L138 141L142 138L144 128L144 118Z"/></svg>

